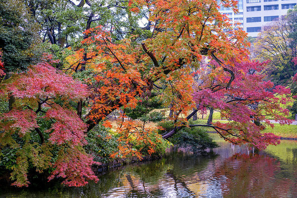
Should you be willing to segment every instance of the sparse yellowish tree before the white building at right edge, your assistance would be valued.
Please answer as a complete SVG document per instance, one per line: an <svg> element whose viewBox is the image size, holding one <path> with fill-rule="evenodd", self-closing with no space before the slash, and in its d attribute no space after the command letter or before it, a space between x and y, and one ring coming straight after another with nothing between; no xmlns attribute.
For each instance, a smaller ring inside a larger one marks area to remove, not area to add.
<svg viewBox="0 0 297 198"><path fill-rule="evenodd" d="M297 72L292 62L296 56L297 8L289 10L286 16L266 25L254 43L254 54L261 61L269 60L267 67L273 82L288 85Z"/></svg>

